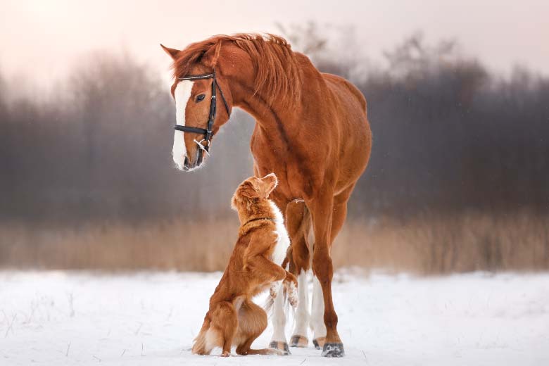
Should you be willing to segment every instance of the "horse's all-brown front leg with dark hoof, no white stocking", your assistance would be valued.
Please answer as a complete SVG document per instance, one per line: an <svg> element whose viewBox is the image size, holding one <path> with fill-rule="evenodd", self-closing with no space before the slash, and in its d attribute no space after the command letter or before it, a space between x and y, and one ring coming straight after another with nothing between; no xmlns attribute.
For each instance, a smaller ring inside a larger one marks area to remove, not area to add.
<svg viewBox="0 0 549 366"><path fill-rule="evenodd" d="M320 282L322 298L324 300L324 325L326 339L322 347L322 355L326 357L342 357L343 343L337 332L337 315L332 301L332 277L334 267L330 256L332 246L332 213L334 196L329 190L322 190L324 194L307 202L313 219L315 233L315 248L313 250L313 272Z"/></svg>

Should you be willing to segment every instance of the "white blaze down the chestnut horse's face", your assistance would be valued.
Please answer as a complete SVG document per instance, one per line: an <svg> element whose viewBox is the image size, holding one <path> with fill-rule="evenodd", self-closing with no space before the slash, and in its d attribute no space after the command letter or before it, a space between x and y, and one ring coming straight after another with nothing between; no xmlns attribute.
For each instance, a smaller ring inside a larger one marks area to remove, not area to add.
<svg viewBox="0 0 549 366"><path fill-rule="evenodd" d="M191 80L182 80L175 87L175 123L179 126L185 125L185 110L187 103L191 98L191 90L194 82ZM183 170L185 156L187 156L187 147L185 146L185 134L183 131L175 131L173 136L173 161L179 170Z"/></svg>

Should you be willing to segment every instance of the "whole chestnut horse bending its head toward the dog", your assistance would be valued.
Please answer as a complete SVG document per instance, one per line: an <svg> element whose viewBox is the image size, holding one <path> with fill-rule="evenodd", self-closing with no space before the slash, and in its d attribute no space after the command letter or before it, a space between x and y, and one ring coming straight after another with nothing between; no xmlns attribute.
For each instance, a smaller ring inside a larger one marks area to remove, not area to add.
<svg viewBox="0 0 549 366"><path fill-rule="evenodd" d="M289 267L298 276L291 346L308 345L310 326L322 355L343 356L330 255L347 201L370 158L364 96L351 82L319 72L307 56L272 34L220 35L183 50L162 47L173 59L175 77L173 160L180 170L198 168L233 107L253 115L253 170L257 177L271 172L279 177L272 200L284 214L291 239ZM306 274L311 263L309 315ZM271 346L287 350L281 301L275 300L273 317Z"/></svg>

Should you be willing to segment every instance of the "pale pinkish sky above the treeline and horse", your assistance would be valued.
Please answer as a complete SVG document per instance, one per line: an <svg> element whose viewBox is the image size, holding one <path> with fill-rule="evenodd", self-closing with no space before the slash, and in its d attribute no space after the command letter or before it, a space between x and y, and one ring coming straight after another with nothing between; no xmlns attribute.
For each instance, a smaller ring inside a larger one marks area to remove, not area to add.
<svg viewBox="0 0 549 366"><path fill-rule="evenodd" d="M421 30L430 42L454 37L497 72L518 63L549 75L549 0L0 0L0 70L44 84L88 51L125 48L167 77L160 42L182 48L308 20L353 25L358 51L374 60Z"/></svg>

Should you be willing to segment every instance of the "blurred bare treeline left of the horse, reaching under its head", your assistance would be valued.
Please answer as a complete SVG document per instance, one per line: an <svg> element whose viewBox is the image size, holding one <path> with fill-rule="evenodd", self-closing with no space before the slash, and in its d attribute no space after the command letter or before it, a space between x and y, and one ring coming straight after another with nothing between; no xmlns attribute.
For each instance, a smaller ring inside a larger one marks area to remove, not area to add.
<svg viewBox="0 0 549 366"><path fill-rule="evenodd" d="M90 56L60 89L46 103L2 103L2 220L217 217L251 175L243 113L215 139L208 169L175 170L169 89L129 57Z"/></svg>

